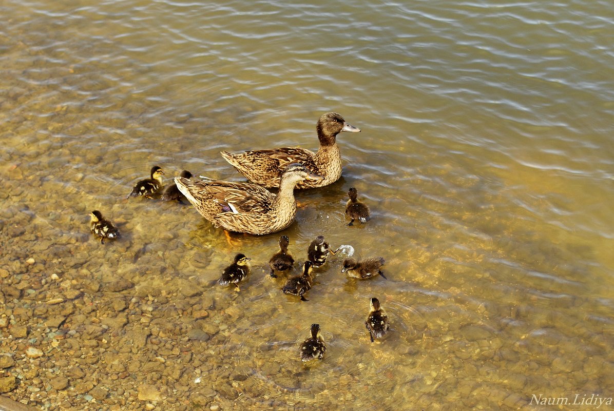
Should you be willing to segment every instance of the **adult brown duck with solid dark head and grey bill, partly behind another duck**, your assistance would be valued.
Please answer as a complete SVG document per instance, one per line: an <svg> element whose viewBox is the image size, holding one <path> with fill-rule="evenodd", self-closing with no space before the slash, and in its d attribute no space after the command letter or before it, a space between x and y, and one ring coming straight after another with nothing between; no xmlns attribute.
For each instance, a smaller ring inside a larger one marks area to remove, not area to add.
<svg viewBox="0 0 614 411"><path fill-rule="evenodd" d="M325 113L317 120L317 137L320 148L313 153L305 148L286 147L256 150L239 154L222 152L223 158L243 174L247 180L265 187L279 186L281 174L288 164L301 163L322 180L306 180L297 188L322 187L341 177L341 153L336 135L341 131L358 133L359 128L349 125L338 113Z"/></svg>

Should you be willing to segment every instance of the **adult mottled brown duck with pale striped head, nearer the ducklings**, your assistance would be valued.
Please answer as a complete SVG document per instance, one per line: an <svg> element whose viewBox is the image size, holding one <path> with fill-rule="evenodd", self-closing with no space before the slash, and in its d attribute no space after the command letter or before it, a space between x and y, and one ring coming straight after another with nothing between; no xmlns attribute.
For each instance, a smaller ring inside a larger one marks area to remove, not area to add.
<svg viewBox="0 0 614 411"><path fill-rule="evenodd" d="M294 221L297 202L293 190L304 179L321 180L322 177L309 172L302 164L290 164L282 174L277 194L251 183L194 181L183 177L175 177L175 183L214 226L248 234L270 234Z"/></svg>

